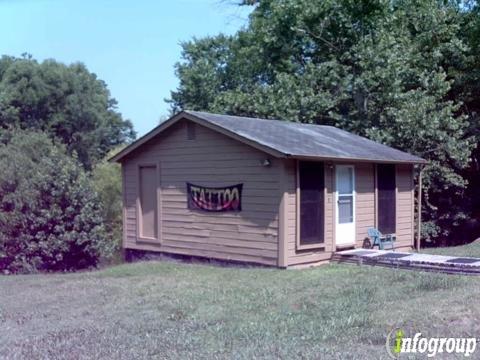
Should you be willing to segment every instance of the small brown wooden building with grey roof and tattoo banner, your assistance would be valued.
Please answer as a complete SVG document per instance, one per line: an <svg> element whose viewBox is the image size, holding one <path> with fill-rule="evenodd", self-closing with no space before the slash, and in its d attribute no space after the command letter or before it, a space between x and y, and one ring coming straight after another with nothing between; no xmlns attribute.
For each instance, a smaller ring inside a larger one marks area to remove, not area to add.
<svg viewBox="0 0 480 360"><path fill-rule="evenodd" d="M286 268L414 243L419 157L331 126L183 111L111 159L122 164L125 249Z"/></svg>

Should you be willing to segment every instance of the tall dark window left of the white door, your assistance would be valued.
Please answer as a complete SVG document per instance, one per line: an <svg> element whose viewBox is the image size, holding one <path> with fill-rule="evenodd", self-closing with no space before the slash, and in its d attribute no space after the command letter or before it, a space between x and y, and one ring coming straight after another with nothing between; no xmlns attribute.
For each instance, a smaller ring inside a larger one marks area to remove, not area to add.
<svg viewBox="0 0 480 360"><path fill-rule="evenodd" d="M300 177L300 245L323 243L324 168L321 162L302 161Z"/></svg>

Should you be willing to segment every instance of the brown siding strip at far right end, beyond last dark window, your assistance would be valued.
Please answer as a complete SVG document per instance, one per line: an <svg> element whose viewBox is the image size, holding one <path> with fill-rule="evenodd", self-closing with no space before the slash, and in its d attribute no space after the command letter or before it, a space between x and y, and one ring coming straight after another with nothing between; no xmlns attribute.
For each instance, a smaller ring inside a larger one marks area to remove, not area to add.
<svg viewBox="0 0 480 360"><path fill-rule="evenodd" d="M413 246L413 166L397 165L396 247Z"/></svg>

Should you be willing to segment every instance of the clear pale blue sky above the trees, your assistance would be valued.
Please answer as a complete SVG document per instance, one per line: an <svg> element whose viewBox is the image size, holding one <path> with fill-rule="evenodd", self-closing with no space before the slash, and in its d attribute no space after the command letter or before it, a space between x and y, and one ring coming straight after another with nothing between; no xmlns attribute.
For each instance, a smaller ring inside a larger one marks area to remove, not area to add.
<svg viewBox="0 0 480 360"><path fill-rule="evenodd" d="M0 0L0 55L81 61L142 135L168 115L181 41L246 24L235 0Z"/></svg>

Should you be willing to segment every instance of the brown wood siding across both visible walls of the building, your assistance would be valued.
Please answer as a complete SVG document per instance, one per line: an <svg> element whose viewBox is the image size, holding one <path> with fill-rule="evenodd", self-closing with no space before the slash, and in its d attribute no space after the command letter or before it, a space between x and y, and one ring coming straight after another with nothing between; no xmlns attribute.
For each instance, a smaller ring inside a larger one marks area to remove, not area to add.
<svg viewBox="0 0 480 360"><path fill-rule="evenodd" d="M201 125L187 139L187 121L142 145L122 163L124 248L161 251L280 267L328 261L335 246L335 165L325 163L325 236L322 247L297 246L297 161L262 151ZM269 158L272 165L263 167ZM158 238L138 235L139 166L159 169ZM339 163L340 164L340 163ZM355 163L355 247L375 227L373 163ZM413 245L413 167L397 165L396 247ZM208 213L187 207L186 182L218 187L243 183L242 211Z"/></svg>

